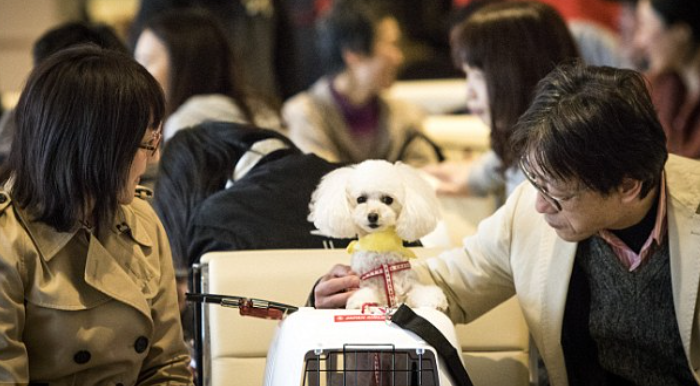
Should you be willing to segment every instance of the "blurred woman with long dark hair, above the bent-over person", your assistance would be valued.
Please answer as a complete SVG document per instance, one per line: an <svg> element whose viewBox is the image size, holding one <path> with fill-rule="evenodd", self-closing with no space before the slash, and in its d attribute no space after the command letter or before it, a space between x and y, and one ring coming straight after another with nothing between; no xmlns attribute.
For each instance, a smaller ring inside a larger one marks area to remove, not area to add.
<svg viewBox="0 0 700 386"><path fill-rule="evenodd" d="M173 9L144 24L134 52L165 92L167 142L203 121L281 129L278 113L246 92L219 21L202 9Z"/></svg>

